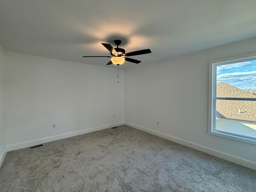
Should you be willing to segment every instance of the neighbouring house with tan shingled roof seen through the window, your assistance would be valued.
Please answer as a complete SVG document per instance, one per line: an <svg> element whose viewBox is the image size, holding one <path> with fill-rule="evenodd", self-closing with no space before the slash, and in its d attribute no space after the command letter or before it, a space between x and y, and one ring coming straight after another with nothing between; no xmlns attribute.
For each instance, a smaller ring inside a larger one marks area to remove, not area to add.
<svg viewBox="0 0 256 192"><path fill-rule="evenodd" d="M216 95L217 97L256 98L255 94L224 82L217 84ZM217 100L216 129L256 138L256 102Z"/></svg>

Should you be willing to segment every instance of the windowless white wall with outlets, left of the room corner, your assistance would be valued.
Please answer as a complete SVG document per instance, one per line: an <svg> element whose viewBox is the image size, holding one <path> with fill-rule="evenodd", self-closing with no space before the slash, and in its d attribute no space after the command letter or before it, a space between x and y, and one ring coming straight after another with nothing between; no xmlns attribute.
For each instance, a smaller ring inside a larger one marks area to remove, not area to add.
<svg viewBox="0 0 256 192"><path fill-rule="evenodd" d="M123 70L117 83L116 69L14 52L5 55L8 151L124 123Z"/></svg>

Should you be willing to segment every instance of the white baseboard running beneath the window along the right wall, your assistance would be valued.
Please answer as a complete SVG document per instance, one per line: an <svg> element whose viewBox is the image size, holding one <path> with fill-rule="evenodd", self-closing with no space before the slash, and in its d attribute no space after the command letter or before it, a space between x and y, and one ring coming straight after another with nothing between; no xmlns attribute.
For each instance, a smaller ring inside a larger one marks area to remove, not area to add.
<svg viewBox="0 0 256 192"><path fill-rule="evenodd" d="M256 163L255 162L248 161L246 159L242 159L242 158L239 158L239 157L236 157L236 156L232 156L230 154L226 154L224 152L220 152L220 151L217 151L217 150L214 150L214 149L202 146L202 145L198 145L198 144L186 141L186 140L182 140L182 139L179 139L179 138L176 138L176 137L172 137L170 135L163 134L163 133L160 133L160 132L157 132L157 131L154 131L154 130L151 130L151 129L148 129L148 128L145 128L145 127L142 127L142 126L138 126L138 125L135 125L135 124L132 124L132 123L124 122L124 124L128 125L130 127L136 128L138 130L142 130L144 132L148 132L150 134L156 135L158 137L176 142L178 144L182 144L184 146L187 146L187 147L205 152L207 154L222 158L224 160L227 160L227 161L230 161L230 162L248 167L250 169L256 170Z"/></svg>

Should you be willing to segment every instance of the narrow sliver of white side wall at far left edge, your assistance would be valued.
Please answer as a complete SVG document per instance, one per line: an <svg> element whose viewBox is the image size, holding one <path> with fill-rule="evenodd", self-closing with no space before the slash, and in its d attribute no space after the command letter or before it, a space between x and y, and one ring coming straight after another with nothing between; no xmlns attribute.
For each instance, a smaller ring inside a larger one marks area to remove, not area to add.
<svg viewBox="0 0 256 192"><path fill-rule="evenodd" d="M0 46L0 166L5 157L6 150L6 132L3 126L3 95L4 95L4 85L3 85L3 70L5 64L4 50Z"/></svg>

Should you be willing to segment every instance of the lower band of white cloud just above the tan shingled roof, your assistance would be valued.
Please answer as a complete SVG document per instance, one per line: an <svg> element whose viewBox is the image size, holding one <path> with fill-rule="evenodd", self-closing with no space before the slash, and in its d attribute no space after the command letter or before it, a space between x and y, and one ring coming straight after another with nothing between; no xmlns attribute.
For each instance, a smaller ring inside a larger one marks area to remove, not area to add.
<svg viewBox="0 0 256 192"><path fill-rule="evenodd" d="M217 75L217 83L222 81L240 89L256 88L256 71Z"/></svg>

